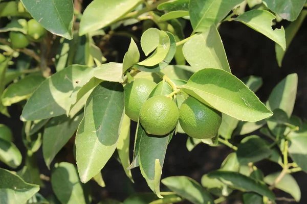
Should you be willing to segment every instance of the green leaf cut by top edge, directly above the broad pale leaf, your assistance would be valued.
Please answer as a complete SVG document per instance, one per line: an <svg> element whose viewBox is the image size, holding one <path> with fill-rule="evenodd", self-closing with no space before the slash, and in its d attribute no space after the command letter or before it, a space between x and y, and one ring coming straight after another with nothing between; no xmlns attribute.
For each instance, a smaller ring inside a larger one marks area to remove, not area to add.
<svg viewBox="0 0 307 204"><path fill-rule="evenodd" d="M242 0L190 0L189 13L194 32L205 32L217 25Z"/></svg>

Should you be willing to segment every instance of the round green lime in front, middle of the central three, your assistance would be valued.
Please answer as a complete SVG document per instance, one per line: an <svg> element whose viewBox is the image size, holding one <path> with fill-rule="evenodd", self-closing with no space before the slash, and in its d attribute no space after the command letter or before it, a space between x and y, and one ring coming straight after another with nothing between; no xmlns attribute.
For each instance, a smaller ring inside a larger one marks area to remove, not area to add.
<svg viewBox="0 0 307 204"><path fill-rule="evenodd" d="M140 122L151 135L166 135L176 127L179 110L174 101L166 96L152 96L140 111Z"/></svg>

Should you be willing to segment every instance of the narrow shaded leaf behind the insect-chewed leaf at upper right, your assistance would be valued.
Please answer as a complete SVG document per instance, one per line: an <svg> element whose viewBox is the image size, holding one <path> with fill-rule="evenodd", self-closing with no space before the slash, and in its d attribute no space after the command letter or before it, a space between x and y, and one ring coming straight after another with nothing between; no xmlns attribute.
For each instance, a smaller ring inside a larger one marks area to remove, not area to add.
<svg viewBox="0 0 307 204"><path fill-rule="evenodd" d="M284 32L286 33L285 34L286 35L286 49L289 48L293 38L298 32L306 16L307 16L307 11L302 10L298 18L294 22L290 23L290 25L288 25L288 27L284 30ZM282 50L282 48L278 44L275 44L276 59L277 59L277 63L279 67L281 67L282 59L284 55L286 54L286 52L287 50Z"/></svg>

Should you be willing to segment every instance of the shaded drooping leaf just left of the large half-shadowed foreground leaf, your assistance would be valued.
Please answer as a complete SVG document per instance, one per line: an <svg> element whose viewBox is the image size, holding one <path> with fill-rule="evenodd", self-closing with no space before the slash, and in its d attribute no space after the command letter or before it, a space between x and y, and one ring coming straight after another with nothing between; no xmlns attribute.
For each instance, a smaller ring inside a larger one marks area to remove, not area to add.
<svg viewBox="0 0 307 204"><path fill-rule="evenodd" d="M61 148L77 131L82 118L83 112L80 112L73 118L61 115L48 121L42 139L43 159L48 168Z"/></svg>

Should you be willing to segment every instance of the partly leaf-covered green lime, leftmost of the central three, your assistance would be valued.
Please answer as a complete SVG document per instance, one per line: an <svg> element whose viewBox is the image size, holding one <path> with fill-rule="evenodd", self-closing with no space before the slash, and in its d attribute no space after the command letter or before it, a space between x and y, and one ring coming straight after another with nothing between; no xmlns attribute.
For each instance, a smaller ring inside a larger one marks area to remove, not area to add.
<svg viewBox="0 0 307 204"><path fill-rule="evenodd" d="M140 78L125 86L125 113L129 118L136 122L139 120L141 107L156 85L155 82Z"/></svg>

